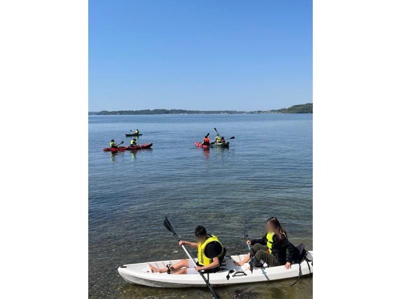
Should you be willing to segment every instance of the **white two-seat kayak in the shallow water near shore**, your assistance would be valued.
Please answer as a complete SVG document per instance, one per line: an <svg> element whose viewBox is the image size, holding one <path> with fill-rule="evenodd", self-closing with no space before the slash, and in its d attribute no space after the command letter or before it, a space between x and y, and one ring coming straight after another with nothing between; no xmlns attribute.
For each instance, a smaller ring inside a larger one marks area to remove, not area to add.
<svg viewBox="0 0 401 299"><path fill-rule="evenodd" d="M309 251L309 253L313 256L313 251ZM255 268L253 273L251 273L251 270L248 270L249 263L245 263L241 267L235 265L233 262L233 260L242 260L245 258L245 256L245 254L241 254L231 255L230 257L227 257L225 262L222 263L222 267L224 268L224 270L209 274L209 282L212 284L212 286L296 278L299 275L300 268L298 263L292 264L291 268L288 270L283 265L276 267L267 267L267 264L265 263L264 267ZM167 264L174 264L178 261L179 259L152 261L149 263L152 266L164 268ZM148 286L199 287L206 285L202 276L200 276L199 274L167 274L166 272L152 273L148 267L149 263L142 262L121 265L118 268L118 272L126 281L130 283L143 284ZM310 270L308 267L308 262L305 259L302 260L300 265L301 275L307 275L313 272L313 265L311 261L309 261ZM234 271L229 272L231 269ZM244 272L237 273L241 270ZM227 279L228 275L229 279ZM208 275L205 274L205 277L208 277Z"/></svg>

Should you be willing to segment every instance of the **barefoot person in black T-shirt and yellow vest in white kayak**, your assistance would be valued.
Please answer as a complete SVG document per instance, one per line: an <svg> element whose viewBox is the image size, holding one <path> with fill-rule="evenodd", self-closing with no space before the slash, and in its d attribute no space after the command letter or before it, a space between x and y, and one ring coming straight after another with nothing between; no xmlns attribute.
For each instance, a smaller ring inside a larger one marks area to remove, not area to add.
<svg viewBox="0 0 401 299"><path fill-rule="evenodd" d="M206 271L209 273L216 272L220 269L220 262L224 258L226 252L223 244L216 235L208 234L206 228L198 225L195 228L195 236L197 243L188 241L179 241L178 245L189 245L197 248L197 262L193 264L190 259L181 259L176 264L167 264L165 268L156 268L149 264L153 273L160 272L168 274L196 274L198 271Z"/></svg>

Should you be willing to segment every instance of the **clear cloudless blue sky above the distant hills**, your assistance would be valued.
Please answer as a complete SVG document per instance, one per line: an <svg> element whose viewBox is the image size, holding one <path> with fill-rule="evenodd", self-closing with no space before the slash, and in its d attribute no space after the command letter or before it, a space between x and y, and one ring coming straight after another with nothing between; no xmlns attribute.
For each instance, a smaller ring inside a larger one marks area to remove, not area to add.
<svg viewBox="0 0 401 299"><path fill-rule="evenodd" d="M306 102L311 0L89 0L89 111Z"/></svg>

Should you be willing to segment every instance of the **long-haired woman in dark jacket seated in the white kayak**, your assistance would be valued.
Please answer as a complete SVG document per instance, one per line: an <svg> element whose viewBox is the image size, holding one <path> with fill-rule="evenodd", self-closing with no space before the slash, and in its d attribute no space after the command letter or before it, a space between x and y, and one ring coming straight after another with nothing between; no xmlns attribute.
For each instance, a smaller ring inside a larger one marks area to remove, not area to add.
<svg viewBox="0 0 401 299"><path fill-rule="evenodd" d="M286 269L291 268L295 257L295 246L287 239L287 231L281 227L276 217L270 217L266 221L266 235L260 239L247 240L252 245L251 250L258 260L263 260L269 266L284 265ZM236 265L242 266L251 260L250 254L242 261L234 261Z"/></svg>

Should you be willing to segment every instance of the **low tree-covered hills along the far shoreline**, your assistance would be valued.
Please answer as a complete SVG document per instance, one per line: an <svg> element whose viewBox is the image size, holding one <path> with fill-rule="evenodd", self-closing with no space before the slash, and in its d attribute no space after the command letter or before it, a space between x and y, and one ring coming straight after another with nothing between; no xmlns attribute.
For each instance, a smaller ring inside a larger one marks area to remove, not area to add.
<svg viewBox="0 0 401 299"><path fill-rule="evenodd" d="M289 108L277 110L236 111L236 110L182 110L182 109L153 109L153 110L118 110L89 112L89 115L149 115L149 114L264 114L264 113L313 113L313 103L293 105Z"/></svg>

